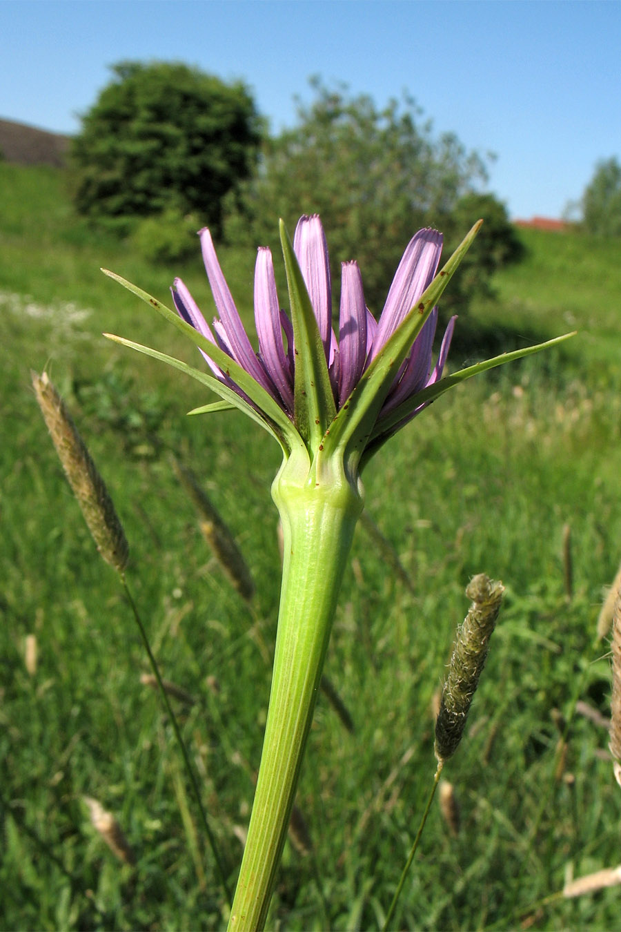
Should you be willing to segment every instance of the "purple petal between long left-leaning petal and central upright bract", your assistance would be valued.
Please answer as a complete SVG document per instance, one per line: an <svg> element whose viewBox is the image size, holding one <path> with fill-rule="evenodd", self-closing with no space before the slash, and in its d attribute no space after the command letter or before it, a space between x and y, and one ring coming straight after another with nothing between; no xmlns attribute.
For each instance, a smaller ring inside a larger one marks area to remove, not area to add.
<svg viewBox="0 0 621 932"><path fill-rule="evenodd" d="M263 247L259 249L254 268L254 321L263 365L282 401L292 411L293 389L290 366L282 342L274 263L269 249Z"/></svg>

